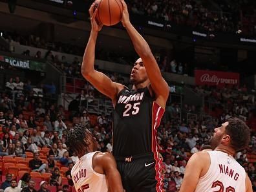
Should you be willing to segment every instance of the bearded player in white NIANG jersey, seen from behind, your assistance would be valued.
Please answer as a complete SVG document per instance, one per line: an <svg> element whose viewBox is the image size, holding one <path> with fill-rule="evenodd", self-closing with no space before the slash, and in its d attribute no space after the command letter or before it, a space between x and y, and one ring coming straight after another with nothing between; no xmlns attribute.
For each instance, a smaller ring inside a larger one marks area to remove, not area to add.
<svg viewBox="0 0 256 192"><path fill-rule="evenodd" d="M238 118L230 118L214 131L210 140L214 151L191 156L180 192L252 192L246 171L233 158L248 146L249 127Z"/></svg>

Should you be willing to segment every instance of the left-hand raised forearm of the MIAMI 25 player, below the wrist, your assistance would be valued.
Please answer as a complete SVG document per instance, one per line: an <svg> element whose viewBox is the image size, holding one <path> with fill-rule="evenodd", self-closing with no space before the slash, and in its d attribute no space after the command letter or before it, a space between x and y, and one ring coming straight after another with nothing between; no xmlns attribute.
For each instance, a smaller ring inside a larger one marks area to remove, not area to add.
<svg viewBox="0 0 256 192"><path fill-rule="evenodd" d="M95 61L95 46L98 37L98 32L91 31L89 41L85 48L85 54L83 55L83 63L81 66L81 73L83 76L87 76L94 70Z"/></svg>

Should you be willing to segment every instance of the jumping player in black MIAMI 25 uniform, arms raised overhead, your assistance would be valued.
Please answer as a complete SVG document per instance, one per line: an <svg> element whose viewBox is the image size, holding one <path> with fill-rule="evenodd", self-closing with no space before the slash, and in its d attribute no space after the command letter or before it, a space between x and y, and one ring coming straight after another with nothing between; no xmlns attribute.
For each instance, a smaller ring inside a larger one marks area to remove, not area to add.
<svg viewBox="0 0 256 192"><path fill-rule="evenodd" d="M158 154L156 131L164 114L169 87L162 78L149 45L131 24L127 5L123 0L121 2L123 27L140 56L131 70L133 88L129 90L124 85L112 82L105 74L94 69L96 40L102 27L95 20L98 11L95 4L89 9L92 28L83 56L81 74L112 100L113 155L125 191L164 191L160 175L162 159Z"/></svg>

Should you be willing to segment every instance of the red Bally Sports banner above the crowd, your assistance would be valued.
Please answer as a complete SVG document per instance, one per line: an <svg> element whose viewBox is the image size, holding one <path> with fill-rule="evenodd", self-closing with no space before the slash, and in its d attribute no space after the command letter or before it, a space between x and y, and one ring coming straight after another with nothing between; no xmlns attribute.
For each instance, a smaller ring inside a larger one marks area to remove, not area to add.
<svg viewBox="0 0 256 192"><path fill-rule="evenodd" d="M224 87L239 85L240 76L236 72L220 72L215 70L195 70L196 85Z"/></svg>

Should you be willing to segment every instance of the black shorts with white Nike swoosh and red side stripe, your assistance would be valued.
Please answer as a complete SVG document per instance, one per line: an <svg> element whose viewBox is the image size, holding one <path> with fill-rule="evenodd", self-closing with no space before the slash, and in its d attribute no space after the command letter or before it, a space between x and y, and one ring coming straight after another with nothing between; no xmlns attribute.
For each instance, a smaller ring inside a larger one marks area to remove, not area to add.
<svg viewBox="0 0 256 192"><path fill-rule="evenodd" d="M126 192L163 192L163 177L158 153L115 157Z"/></svg>

